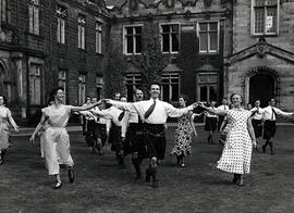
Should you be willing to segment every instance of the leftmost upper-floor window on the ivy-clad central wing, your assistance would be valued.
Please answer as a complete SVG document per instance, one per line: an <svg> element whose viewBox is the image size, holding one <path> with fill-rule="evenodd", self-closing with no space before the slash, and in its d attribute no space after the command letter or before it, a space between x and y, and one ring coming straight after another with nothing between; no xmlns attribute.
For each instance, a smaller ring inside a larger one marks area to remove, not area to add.
<svg viewBox="0 0 294 213"><path fill-rule="evenodd" d="M124 53L142 53L142 26L124 27Z"/></svg>

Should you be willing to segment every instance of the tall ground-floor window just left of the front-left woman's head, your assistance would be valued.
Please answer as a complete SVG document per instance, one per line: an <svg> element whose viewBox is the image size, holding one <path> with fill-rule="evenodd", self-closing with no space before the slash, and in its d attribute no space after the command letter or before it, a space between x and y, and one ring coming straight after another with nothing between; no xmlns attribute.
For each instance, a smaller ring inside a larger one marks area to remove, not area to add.
<svg viewBox="0 0 294 213"><path fill-rule="evenodd" d="M41 103L41 65L30 64L29 67L29 103Z"/></svg>

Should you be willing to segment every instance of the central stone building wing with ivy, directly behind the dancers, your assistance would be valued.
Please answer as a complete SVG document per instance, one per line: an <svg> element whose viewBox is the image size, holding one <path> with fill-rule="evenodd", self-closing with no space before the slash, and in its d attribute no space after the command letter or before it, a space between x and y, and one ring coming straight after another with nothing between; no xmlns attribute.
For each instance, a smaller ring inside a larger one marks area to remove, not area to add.
<svg viewBox="0 0 294 213"><path fill-rule="evenodd" d="M168 58L160 72L162 99L176 101L180 93L185 93L193 101L220 101L223 59L232 52L230 2L106 0L112 15L111 38L128 62L125 72L128 99L132 100L133 88L144 83L146 72L136 66L133 58L144 54L144 34L152 30L158 35L155 39L159 40L162 58Z"/></svg>

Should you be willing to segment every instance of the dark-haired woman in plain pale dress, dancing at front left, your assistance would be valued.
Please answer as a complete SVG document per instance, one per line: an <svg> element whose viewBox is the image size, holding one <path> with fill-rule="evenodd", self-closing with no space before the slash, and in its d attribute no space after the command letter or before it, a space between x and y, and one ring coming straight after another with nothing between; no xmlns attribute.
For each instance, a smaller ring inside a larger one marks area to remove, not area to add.
<svg viewBox="0 0 294 213"><path fill-rule="evenodd" d="M60 164L66 165L70 183L74 181L74 162L70 152L70 137L65 129L70 115L76 111L89 110L100 104L100 102L87 106L64 105L62 104L64 98L62 87L52 89L50 92L50 98L53 100L53 104L41 110L42 116L40 120L40 125L36 127L30 137L30 141L34 143L36 134L47 122L48 127L42 134L44 155L49 175L56 176L56 184L53 188L59 189L62 185L60 178Z"/></svg>

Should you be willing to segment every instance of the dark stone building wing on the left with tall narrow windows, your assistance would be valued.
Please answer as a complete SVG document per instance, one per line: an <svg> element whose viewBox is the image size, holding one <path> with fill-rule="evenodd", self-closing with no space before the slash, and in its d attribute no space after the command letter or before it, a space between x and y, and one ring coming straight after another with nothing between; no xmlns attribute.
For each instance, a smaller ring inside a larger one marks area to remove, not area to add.
<svg viewBox="0 0 294 213"><path fill-rule="evenodd" d="M39 120L57 85L70 104L102 95L109 33L103 2L0 0L0 93L19 122Z"/></svg>

